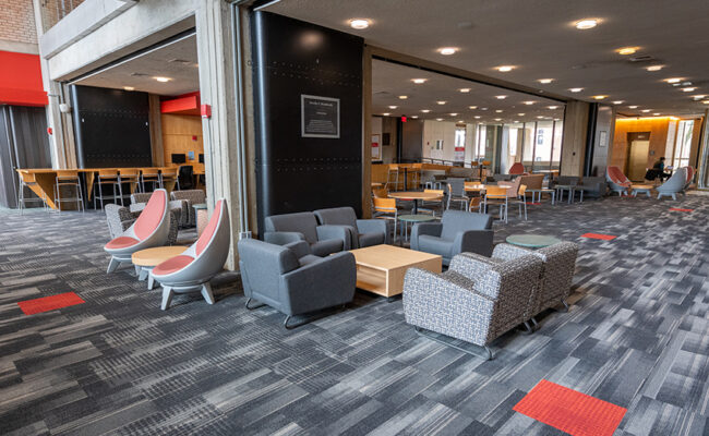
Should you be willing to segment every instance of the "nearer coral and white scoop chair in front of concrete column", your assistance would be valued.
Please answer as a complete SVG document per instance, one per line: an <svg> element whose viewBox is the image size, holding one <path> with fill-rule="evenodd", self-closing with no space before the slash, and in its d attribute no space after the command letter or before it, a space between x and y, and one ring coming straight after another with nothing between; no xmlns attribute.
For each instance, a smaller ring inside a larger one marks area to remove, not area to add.
<svg viewBox="0 0 709 436"><path fill-rule="evenodd" d="M231 242L229 210L224 198L217 201L209 222L202 235L184 253L157 265L151 276L163 286L163 305L166 311L177 293L202 291L207 303L214 304L209 280L224 269Z"/></svg>

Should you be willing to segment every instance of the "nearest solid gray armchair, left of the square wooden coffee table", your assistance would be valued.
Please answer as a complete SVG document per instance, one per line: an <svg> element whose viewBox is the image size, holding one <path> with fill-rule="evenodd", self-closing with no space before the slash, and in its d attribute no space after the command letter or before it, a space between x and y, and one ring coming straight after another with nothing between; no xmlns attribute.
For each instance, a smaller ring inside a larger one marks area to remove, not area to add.
<svg viewBox="0 0 709 436"><path fill-rule="evenodd" d="M305 245L304 242L300 243ZM347 304L354 296L357 266L352 253L327 257L305 255L253 239L239 241L239 266L244 294L291 316Z"/></svg>

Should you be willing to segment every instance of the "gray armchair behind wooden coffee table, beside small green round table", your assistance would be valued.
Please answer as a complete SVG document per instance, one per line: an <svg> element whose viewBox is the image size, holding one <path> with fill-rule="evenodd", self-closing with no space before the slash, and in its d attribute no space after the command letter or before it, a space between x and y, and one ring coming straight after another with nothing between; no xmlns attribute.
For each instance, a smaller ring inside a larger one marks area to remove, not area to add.
<svg viewBox="0 0 709 436"><path fill-rule="evenodd" d="M440 254L448 265L458 253L492 253L492 217L464 210L446 210L441 222L420 222L411 231L411 250Z"/></svg>

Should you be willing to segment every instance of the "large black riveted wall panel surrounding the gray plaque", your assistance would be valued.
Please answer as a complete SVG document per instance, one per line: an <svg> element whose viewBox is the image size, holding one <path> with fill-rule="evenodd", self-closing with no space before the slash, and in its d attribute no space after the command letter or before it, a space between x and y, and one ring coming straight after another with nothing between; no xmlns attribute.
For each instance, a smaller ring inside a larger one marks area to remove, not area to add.
<svg viewBox="0 0 709 436"><path fill-rule="evenodd" d="M254 12L259 229L264 217L362 205L363 39ZM301 136L301 95L339 99L339 138Z"/></svg>

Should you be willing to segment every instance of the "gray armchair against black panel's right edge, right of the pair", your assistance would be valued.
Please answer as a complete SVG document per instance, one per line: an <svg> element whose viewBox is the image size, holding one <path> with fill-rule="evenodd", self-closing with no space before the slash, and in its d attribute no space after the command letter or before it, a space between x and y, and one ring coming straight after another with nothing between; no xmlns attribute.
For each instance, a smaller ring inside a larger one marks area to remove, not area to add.
<svg viewBox="0 0 709 436"><path fill-rule="evenodd" d="M341 226L348 230L350 238L344 241L345 250L363 249L388 242L386 221L383 219L357 219L351 207L320 209L314 214L321 225Z"/></svg>

